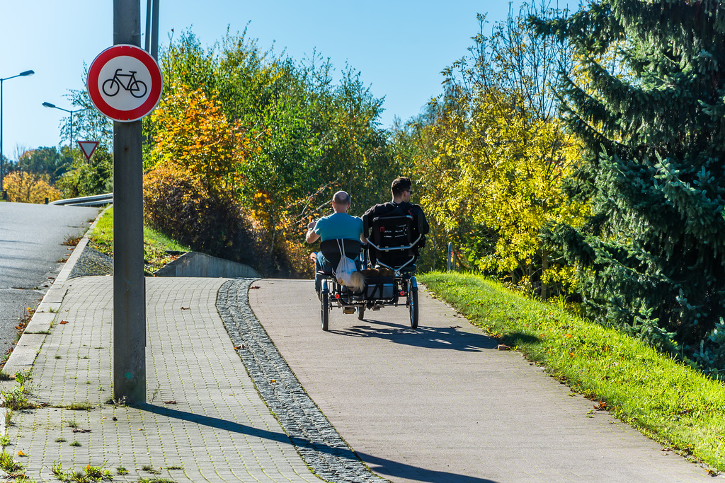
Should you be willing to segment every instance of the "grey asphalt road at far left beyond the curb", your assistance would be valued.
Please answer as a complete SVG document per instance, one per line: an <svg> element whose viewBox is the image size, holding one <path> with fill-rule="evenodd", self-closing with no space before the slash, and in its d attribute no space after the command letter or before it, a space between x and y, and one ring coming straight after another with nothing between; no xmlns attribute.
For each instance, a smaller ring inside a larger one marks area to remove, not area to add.
<svg viewBox="0 0 725 483"><path fill-rule="evenodd" d="M62 243L86 231L97 208L0 202L0 356L14 327L36 308L70 250ZM52 277L52 279L51 279Z"/></svg>

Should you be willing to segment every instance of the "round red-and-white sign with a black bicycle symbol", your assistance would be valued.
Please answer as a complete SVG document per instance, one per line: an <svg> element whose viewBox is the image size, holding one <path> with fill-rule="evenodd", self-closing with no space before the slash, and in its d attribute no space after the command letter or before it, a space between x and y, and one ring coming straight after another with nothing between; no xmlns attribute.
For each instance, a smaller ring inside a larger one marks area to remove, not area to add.
<svg viewBox="0 0 725 483"><path fill-rule="evenodd" d="M138 121L161 100L163 81L156 60L144 49L116 45L102 51L88 69L88 95L105 116Z"/></svg>

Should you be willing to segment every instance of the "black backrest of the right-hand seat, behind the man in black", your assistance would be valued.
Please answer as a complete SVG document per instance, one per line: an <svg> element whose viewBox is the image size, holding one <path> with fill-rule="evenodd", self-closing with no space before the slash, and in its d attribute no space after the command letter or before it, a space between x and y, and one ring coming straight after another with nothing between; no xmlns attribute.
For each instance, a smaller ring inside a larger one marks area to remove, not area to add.
<svg viewBox="0 0 725 483"><path fill-rule="evenodd" d="M405 247L413 243L413 217L410 215L394 217L378 217L373 219L370 239L380 248ZM415 257L410 248L391 251L375 251L374 258L388 266L399 268Z"/></svg>

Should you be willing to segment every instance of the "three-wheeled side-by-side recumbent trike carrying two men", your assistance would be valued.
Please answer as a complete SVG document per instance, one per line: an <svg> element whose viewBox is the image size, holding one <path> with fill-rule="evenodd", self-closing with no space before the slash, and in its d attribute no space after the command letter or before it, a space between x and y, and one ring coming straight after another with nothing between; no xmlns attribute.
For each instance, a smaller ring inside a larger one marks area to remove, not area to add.
<svg viewBox="0 0 725 483"><path fill-rule="evenodd" d="M363 247L360 241L344 240L344 254L363 267L365 285L363 290L355 292L337 282L331 271L318 272L323 275L320 290L323 330L329 330L330 311L336 307L341 308L344 314L357 312L357 319L363 320L366 310L407 306L410 327L418 328L418 283L414 275L417 257L413 247L423 235L413 239L414 232L422 232L421 227L417 228L414 230L410 215L378 217L373 219L367 246ZM331 266L337 266L342 255L338 240L322 242L320 251Z"/></svg>

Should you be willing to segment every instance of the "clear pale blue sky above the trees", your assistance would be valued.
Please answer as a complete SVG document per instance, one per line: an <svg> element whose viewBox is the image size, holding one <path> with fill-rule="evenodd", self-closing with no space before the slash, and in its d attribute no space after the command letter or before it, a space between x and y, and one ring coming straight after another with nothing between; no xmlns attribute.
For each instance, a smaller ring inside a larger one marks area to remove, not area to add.
<svg viewBox="0 0 725 483"><path fill-rule="evenodd" d="M521 1L514 1L518 9ZM112 45L112 0L0 0L0 77L25 70L30 77L3 83L3 152L9 159L38 146L67 143L59 124L73 109L69 89L84 88L83 63ZM247 28L262 49L274 45L298 61L313 50L339 72L346 62L361 72L374 96L384 97L384 127L409 119L441 92L444 67L466 54L477 33L476 13L503 20L505 1L291 1L160 0L159 44L191 29L211 45ZM146 1L141 0L145 25ZM142 38L142 46L144 39Z"/></svg>

